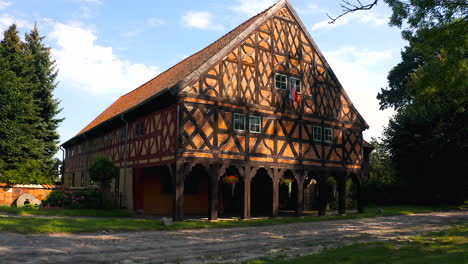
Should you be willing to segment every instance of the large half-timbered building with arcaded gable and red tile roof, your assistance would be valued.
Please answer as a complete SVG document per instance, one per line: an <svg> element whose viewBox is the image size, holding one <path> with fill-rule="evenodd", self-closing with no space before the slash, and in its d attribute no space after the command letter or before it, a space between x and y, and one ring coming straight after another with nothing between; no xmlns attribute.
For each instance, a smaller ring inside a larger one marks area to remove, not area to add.
<svg viewBox="0 0 468 264"><path fill-rule="evenodd" d="M367 128L280 0L123 95L65 142L64 184L89 186L89 166L107 155L120 168L112 191L123 206L181 220L277 216L281 208L300 215L311 186L324 214L322 187L333 178L344 213L345 181L359 196L366 173Z"/></svg>

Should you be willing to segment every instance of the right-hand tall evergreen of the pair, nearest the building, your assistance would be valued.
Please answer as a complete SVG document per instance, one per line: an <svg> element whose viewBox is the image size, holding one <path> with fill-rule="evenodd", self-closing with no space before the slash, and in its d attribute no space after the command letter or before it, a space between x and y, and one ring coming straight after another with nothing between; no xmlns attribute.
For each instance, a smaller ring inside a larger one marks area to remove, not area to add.
<svg viewBox="0 0 468 264"><path fill-rule="evenodd" d="M39 29L35 25L31 32L26 34L26 49L31 55L31 83L34 85L33 96L40 118L36 138L43 144L43 149L39 159L44 166L52 169L53 156L58 150L59 142L57 127L63 119L56 117L61 111L59 101L53 97L58 71L55 69L55 61L51 58L50 48L43 43L44 38L39 35Z"/></svg>

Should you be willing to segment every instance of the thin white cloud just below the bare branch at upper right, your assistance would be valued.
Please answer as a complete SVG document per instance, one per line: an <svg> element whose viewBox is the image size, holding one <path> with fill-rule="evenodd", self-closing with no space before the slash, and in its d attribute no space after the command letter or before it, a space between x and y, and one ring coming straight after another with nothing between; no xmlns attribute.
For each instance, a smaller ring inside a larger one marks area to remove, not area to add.
<svg viewBox="0 0 468 264"><path fill-rule="evenodd" d="M356 12L347 14L340 17L335 21L335 23L330 24L330 19L318 22L312 26L312 31L320 29L332 29L340 26L347 25L349 23L359 23L359 24L371 24L374 26L382 26L387 24L387 18L379 17L370 13Z"/></svg>

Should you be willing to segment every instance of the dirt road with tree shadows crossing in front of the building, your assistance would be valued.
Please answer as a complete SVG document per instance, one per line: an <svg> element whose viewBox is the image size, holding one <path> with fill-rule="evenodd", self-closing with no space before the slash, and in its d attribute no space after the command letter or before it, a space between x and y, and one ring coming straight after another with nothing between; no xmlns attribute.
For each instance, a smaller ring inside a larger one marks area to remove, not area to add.
<svg viewBox="0 0 468 264"><path fill-rule="evenodd" d="M95 234L0 232L0 263L239 263L313 254L468 222L468 211L263 227Z"/></svg>

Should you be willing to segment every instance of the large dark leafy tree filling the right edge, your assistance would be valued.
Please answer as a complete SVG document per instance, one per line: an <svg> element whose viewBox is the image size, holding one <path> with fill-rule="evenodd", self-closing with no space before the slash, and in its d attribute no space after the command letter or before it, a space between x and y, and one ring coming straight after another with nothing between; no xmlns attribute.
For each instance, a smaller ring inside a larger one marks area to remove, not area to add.
<svg viewBox="0 0 468 264"><path fill-rule="evenodd" d="M467 29L456 20L417 30L378 95L397 110L384 143L417 202L468 199Z"/></svg>

